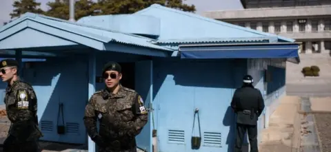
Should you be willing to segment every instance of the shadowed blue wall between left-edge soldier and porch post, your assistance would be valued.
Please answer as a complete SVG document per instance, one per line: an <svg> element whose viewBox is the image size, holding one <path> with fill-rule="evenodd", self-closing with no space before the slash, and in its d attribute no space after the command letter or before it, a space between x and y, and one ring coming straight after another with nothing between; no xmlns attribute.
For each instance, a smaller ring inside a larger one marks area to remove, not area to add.
<svg viewBox="0 0 331 152"><path fill-rule="evenodd" d="M87 62L75 58L61 58L45 63L34 63L26 69L26 80L32 84L38 98L39 128L44 134L41 140L85 144L86 129L83 113L88 100ZM59 104L63 103L63 116ZM57 133L59 125L66 133ZM64 120L64 124L63 124Z"/></svg>

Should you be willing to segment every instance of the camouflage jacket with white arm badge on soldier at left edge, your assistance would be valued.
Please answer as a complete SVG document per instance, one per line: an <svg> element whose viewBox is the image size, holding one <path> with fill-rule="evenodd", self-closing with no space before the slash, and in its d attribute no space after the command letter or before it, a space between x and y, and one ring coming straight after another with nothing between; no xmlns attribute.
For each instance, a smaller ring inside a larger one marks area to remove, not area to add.
<svg viewBox="0 0 331 152"><path fill-rule="evenodd" d="M20 80L6 88L4 100L10 125L9 135L20 141L36 140L43 135L38 128L37 96L33 88Z"/></svg>

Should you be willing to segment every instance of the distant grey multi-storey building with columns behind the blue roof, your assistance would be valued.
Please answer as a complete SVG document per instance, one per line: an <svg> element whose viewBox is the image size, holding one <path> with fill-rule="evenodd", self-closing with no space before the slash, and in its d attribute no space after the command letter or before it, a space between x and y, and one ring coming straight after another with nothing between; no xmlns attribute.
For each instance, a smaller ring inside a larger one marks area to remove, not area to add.
<svg viewBox="0 0 331 152"><path fill-rule="evenodd" d="M203 16L296 39L300 53L330 53L330 0L241 0L245 10L203 12Z"/></svg>

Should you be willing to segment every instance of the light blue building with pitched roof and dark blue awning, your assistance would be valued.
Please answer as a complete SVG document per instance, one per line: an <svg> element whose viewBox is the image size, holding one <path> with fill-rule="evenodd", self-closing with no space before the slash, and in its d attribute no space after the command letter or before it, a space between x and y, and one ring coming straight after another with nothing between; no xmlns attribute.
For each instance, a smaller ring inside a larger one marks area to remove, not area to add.
<svg viewBox="0 0 331 152"><path fill-rule="evenodd" d="M122 84L137 90L150 109L139 148L152 151L155 130L158 151L193 151L198 108L203 141L196 151L228 151L234 140L230 102L242 76L251 74L265 97L261 131L285 94L285 62L299 62L298 49L292 39L157 4L76 23L27 13L0 28L0 57L17 58L21 77L37 93L42 140L88 143L90 152L94 142L82 118L90 96L103 88L101 67L108 61L122 65ZM63 123L66 133L59 135Z"/></svg>

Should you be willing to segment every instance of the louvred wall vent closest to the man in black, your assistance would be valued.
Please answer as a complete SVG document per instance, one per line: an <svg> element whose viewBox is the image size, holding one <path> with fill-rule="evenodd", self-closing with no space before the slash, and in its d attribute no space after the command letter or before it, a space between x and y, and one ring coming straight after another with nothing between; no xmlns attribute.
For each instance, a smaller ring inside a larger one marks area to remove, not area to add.
<svg viewBox="0 0 331 152"><path fill-rule="evenodd" d="M222 146L221 133L204 132L203 146Z"/></svg>

